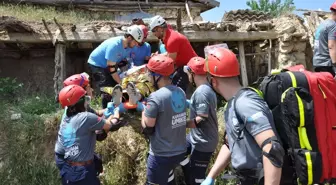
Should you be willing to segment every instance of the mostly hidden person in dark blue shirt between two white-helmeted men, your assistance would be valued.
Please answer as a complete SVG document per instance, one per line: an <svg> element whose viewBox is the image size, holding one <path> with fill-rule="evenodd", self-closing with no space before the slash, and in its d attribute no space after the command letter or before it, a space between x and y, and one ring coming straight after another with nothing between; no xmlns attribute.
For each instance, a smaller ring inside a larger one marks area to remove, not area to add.
<svg viewBox="0 0 336 185"><path fill-rule="evenodd" d="M136 46L132 49L132 58L133 64L132 66L141 66L148 62L152 49L148 42L146 42L148 36L148 28L145 25L139 25L144 33L144 38L139 46Z"/></svg>

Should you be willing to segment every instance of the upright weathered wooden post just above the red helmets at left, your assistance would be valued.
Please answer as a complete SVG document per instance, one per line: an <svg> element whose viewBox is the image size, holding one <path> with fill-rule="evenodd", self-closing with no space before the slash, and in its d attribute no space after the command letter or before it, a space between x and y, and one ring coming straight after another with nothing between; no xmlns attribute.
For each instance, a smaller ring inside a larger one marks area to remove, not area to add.
<svg viewBox="0 0 336 185"><path fill-rule="evenodd" d="M55 98L63 87L63 81L66 78L66 46L57 43L55 47L55 75L54 90Z"/></svg>

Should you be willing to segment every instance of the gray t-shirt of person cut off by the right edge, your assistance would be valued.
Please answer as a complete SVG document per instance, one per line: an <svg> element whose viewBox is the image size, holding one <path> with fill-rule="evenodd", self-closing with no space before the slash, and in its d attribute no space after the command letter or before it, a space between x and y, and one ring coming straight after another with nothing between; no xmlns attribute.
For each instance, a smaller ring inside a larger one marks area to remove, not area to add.
<svg viewBox="0 0 336 185"><path fill-rule="evenodd" d="M314 67L332 66L328 40L336 40L336 22L331 19L323 21L316 29L313 58Z"/></svg>

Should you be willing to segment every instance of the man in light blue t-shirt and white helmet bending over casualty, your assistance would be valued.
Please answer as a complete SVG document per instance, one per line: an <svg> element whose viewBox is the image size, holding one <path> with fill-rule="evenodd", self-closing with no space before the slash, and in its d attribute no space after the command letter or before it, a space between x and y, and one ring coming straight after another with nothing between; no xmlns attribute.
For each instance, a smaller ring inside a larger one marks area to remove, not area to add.
<svg viewBox="0 0 336 185"><path fill-rule="evenodd" d="M131 60L131 50L143 41L144 33L140 26L127 28L124 36L113 37L101 43L89 56L88 65L95 82L95 91L100 87L114 87L120 84L118 68L127 65ZM121 65L122 64L122 65ZM102 107L106 108L111 96L102 93Z"/></svg>

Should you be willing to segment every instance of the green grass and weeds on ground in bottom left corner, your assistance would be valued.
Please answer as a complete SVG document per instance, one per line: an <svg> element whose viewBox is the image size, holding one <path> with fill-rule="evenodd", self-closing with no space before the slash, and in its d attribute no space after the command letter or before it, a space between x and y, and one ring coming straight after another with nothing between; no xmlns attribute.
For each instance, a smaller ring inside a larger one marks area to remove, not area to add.
<svg viewBox="0 0 336 185"><path fill-rule="evenodd" d="M0 105L1 183L60 184L44 119L40 115L22 112L13 103L1 101ZM21 113L22 118L10 120L12 113Z"/></svg>

